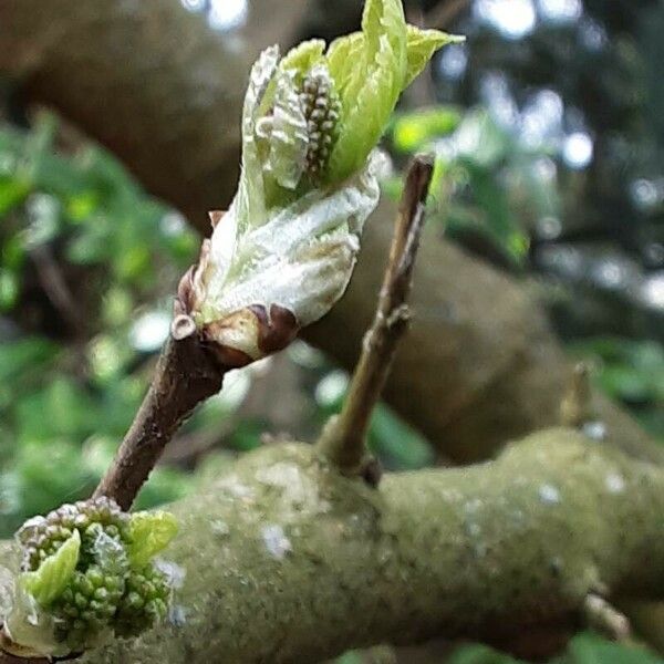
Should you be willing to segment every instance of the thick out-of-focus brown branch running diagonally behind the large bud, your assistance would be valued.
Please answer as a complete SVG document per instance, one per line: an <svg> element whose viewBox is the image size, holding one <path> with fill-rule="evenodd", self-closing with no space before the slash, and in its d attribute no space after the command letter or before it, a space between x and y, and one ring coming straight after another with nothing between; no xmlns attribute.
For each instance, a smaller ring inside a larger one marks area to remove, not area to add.
<svg viewBox="0 0 664 664"><path fill-rule="evenodd" d="M292 38L301 8L255 1L242 42L212 33L177 0L0 0L0 72L27 101L79 123L207 232L207 210L235 189L249 63L267 43ZM308 333L347 367L371 320L394 212L381 206L349 293ZM413 301L386 398L445 456L486 458L504 440L557 422L571 371L522 283L432 234ZM624 413L606 402L598 408L609 439L664 459Z"/></svg>

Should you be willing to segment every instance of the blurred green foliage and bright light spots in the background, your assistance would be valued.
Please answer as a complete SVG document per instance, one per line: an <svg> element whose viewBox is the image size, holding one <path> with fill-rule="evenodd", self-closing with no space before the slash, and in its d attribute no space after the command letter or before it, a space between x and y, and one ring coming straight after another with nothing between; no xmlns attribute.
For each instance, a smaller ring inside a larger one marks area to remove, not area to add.
<svg viewBox="0 0 664 664"><path fill-rule="evenodd" d="M183 2L229 33L250 9L248 0ZM468 42L444 50L395 114L386 194L398 196L412 154L433 149L429 224L521 279L570 354L589 360L598 385L664 443L664 3L407 9ZM0 81L1 537L92 490L145 392L170 293L198 242L112 155L60 118L28 112ZM186 423L141 505L184 495L266 433L311 438L346 385L302 342L234 372ZM436 461L386 406L371 445L392 469ZM474 645L444 661L515 662ZM582 634L558 663L655 661Z"/></svg>

